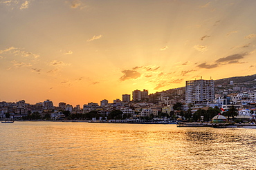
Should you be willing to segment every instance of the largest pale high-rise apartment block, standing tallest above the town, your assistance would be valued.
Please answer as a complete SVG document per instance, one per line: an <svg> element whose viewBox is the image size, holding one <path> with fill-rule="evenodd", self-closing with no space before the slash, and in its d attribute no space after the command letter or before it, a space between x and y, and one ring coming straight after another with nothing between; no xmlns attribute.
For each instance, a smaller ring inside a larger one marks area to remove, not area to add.
<svg viewBox="0 0 256 170"><path fill-rule="evenodd" d="M195 80L186 81L185 103L205 105L214 100L214 81Z"/></svg>

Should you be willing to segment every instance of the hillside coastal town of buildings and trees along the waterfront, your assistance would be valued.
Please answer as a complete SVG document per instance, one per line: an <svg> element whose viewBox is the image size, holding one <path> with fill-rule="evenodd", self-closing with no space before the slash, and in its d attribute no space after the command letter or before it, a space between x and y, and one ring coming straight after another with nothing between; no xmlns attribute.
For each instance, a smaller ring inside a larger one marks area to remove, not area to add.
<svg viewBox="0 0 256 170"><path fill-rule="evenodd" d="M254 123L256 88L235 85L234 81L215 85L213 80L186 81L185 87L149 94L134 90L121 99L69 105L49 99L31 105L25 100L0 102L1 120L84 120L92 122L210 122L223 114L232 122ZM228 88L223 88L226 85Z"/></svg>

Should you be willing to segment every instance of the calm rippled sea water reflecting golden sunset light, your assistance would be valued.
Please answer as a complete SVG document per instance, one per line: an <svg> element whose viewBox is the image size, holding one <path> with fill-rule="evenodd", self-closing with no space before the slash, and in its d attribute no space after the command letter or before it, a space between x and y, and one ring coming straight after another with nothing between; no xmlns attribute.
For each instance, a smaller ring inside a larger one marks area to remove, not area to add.
<svg viewBox="0 0 256 170"><path fill-rule="evenodd" d="M15 122L0 169L256 169L256 129Z"/></svg>

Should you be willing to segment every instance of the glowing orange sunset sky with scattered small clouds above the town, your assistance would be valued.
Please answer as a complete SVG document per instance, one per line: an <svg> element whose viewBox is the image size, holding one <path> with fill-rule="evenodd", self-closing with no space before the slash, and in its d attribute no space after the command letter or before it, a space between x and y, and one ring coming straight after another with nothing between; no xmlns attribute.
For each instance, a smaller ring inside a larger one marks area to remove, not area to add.
<svg viewBox="0 0 256 170"><path fill-rule="evenodd" d="M255 0L0 0L0 101L113 103L256 74ZM132 95L131 95L132 96Z"/></svg>

